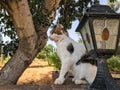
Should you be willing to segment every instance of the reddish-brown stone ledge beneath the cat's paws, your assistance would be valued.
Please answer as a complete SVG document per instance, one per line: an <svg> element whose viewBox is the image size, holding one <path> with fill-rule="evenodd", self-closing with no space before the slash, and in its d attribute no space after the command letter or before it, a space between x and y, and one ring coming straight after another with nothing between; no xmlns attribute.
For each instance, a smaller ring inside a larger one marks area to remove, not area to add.
<svg viewBox="0 0 120 90"><path fill-rule="evenodd" d="M72 77L70 75L67 76L63 85L55 85L54 81L58 77L59 72L53 71L52 72L52 89L53 90L87 90L88 85L75 85L72 82Z"/></svg>

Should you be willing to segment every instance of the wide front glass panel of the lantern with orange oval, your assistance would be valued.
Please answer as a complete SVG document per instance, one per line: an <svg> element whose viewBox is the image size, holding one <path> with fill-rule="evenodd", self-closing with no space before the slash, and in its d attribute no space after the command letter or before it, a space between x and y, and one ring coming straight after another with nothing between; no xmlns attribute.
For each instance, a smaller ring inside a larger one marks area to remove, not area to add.
<svg viewBox="0 0 120 90"><path fill-rule="evenodd" d="M119 28L119 19L94 19L97 49L115 49Z"/></svg>

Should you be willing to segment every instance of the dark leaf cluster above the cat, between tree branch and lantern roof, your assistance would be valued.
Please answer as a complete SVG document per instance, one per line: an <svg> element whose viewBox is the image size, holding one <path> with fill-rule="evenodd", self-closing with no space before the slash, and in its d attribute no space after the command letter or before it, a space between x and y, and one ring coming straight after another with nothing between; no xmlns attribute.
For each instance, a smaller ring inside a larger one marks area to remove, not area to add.
<svg viewBox="0 0 120 90"><path fill-rule="evenodd" d="M58 9L60 13L58 22L62 23L64 30L71 28L72 21L81 19L84 8L83 2L84 0L62 0Z"/></svg>

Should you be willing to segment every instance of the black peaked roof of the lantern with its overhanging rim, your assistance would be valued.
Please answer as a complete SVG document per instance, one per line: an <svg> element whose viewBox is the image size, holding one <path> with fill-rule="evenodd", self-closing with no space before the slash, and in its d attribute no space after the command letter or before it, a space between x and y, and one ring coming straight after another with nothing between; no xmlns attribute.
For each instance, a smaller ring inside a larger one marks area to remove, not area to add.
<svg viewBox="0 0 120 90"><path fill-rule="evenodd" d="M114 10L112 10L107 5L92 5L90 8L87 9L86 13L83 15L83 18L81 19L78 28L76 31L79 31L79 29L82 29L85 22L91 18L118 18L120 19L120 14L115 13Z"/></svg>

